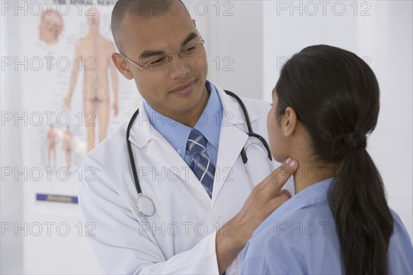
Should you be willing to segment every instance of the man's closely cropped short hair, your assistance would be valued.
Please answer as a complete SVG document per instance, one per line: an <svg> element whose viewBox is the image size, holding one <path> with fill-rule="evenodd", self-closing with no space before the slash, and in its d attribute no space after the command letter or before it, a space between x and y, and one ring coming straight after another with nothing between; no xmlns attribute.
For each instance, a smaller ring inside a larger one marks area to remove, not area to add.
<svg viewBox="0 0 413 275"><path fill-rule="evenodd" d="M111 28L116 47L120 50L120 31L123 19L127 14L136 17L159 17L165 14L188 12L180 0L119 0L112 11Z"/></svg>

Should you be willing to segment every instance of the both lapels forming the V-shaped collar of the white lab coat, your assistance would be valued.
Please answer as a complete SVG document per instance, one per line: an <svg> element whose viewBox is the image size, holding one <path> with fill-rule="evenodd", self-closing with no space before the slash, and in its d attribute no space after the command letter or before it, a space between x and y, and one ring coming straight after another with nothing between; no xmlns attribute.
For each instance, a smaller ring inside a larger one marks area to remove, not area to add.
<svg viewBox="0 0 413 275"><path fill-rule="evenodd" d="M176 171L178 172L176 173L177 176L180 176L184 181L187 181L187 183L198 190L203 199L211 202L211 210L225 180L231 178L230 175L233 172L233 165L240 156L242 147L244 147L248 140L245 117L240 104L217 85L215 85L215 88L220 96L224 117L220 130L220 144L223 144L223 146L218 147L218 161L216 166L216 169L220 172L220 176L215 175L212 201L192 170L189 169L188 171L185 169L188 168L187 163L184 162L182 157L173 149L168 141L153 128L142 102L140 103L140 113L134 125L132 125L129 136L129 141L140 149L145 150L147 156L155 159L165 167L176 167L178 169ZM253 112L246 102L244 102L244 104L246 105L251 122L257 120L255 112ZM168 157L165 157L166 155ZM171 172L175 172L175 170L171 170Z"/></svg>

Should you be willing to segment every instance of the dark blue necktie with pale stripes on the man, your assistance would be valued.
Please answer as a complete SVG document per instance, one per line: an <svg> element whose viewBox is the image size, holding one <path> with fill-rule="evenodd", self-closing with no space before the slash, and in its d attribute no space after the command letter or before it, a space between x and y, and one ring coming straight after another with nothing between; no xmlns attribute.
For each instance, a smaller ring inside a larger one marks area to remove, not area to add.
<svg viewBox="0 0 413 275"><path fill-rule="evenodd" d="M197 130L192 130L191 134L189 134L187 151L193 154L193 159L189 167L191 167L191 170L200 180L211 198L215 166L207 156L207 139Z"/></svg>

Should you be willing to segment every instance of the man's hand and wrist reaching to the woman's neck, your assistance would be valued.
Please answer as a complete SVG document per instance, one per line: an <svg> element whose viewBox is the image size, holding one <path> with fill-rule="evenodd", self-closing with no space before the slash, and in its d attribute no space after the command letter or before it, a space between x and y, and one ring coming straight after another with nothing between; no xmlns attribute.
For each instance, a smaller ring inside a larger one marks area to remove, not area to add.
<svg viewBox="0 0 413 275"><path fill-rule="evenodd" d="M222 274L244 248L253 232L291 194L281 190L290 176L297 171L297 161L288 158L253 188L241 211L216 233L218 268Z"/></svg>

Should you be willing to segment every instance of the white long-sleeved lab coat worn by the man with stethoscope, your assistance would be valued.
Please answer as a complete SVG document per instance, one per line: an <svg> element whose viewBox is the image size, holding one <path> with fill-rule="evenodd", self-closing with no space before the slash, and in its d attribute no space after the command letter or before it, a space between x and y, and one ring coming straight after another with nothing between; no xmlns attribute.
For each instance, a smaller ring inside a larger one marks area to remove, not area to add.
<svg viewBox="0 0 413 275"><path fill-rule="evenodd" d="M184 159L149 123L142 104L129 141L142 193L156 206L153 216L142 218L134 211L138 196L127 154L127 125L85 158L79 204L84 222L96 226L95 236L88 238L103 273L218 274L216 231L241 210L251 192L240 157L242 147L246 147L255 185L270 170L260 141L246 135L240 105L220 88L217 90L224 117L212 199ZM266 116L270 104L243 101L254 132L268 141ZM85 172L88 167L92 170ZM226 228L230 235L231 227ZM227 274L238 273L240 256Z"/></svg>

